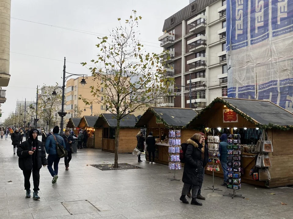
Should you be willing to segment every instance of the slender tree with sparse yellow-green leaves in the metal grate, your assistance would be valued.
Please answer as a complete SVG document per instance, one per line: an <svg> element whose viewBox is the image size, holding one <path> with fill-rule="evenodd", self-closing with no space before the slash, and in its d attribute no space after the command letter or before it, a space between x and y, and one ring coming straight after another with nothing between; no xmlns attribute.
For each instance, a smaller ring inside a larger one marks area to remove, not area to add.
<svg viewBox="0 0 293 219"><path fill-rule="evenodd" d="M133 10L124 24L118 18L120 24L112 29L110 38L99 38L100 42L96 45L99 48L98 59L91 60L96 67L89 68L96 81L96 85L91 87L95 99L79 97L87 105L101 103L117 120L115 168L118 168L120 121L135 110L168 96L168 88L174 82L174 79L164 78L166 70L162 68L164 63L160 62L163 55L144 51L138 38L139 32L135 30L140 19L142 17L136 16ZM85 66L87 63L81 64Z"/></svg>

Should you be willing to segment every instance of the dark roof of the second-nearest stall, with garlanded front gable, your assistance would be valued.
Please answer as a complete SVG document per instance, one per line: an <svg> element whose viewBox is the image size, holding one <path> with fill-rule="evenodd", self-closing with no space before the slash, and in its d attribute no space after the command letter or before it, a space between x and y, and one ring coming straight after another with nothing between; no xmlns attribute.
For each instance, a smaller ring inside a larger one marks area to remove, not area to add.
<svg viewBox="0 0 293 219"><path fill-rule="evenodd" d="M150 107L138 120L136 126L146 126L147 122L155 115L166 126L184 127L196 114L193 109L189 108Z"/></svg>

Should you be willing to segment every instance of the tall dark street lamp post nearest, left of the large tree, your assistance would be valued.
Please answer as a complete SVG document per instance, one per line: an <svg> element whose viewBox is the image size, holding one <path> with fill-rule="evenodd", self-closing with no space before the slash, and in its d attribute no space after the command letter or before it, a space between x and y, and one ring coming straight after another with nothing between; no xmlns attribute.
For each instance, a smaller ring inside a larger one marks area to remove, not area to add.
<svg viewBox="0 0 293 219"><path fill-rule="evenodd" d="M66 73L69 74L68 76L66 76ZM82 76L83 78L81 79L81 85L82 86L85 86L86 82L85 82L85 78L84 76L85 75L81 75L81 74L71 74L71 73L68 73L66 72L66 58L64 57L64 65L63 65L63 83L62 83L62 87L56 87L54 89L54 91L52 92L52 96L56 96L57 93L56 93L56 89L57 88L60 88L62 89L62 106L61 106L61 112L58 112L59 116L61 117L61 120L60 120L60 134L62 135L63 134L63 124L64 124L64 121L63 121L63 117L66 116L66 112L64 112L64 99L65 99L65 81L67 78L73 76L73 75L76 75L76 76Z"/></svg>

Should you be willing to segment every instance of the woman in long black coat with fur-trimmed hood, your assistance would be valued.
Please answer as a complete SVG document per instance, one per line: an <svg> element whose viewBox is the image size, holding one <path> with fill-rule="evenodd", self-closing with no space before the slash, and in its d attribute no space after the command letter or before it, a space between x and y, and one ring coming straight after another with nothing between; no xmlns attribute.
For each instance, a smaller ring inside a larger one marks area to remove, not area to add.
<svg viewBox="0 0 293 219"><path fill-rule="evenodd" d="M180 201L188 204L189 202L185 196L189 191L190 185L192 185L191 204L199 206L202 206L202 203L197 201L197 191L203 181L203 159L201 151L203 146L201 144L201 137L201 134L197 133L186 141L188 145L185 152L185 164L182 176L182 182L184 184L180 197Z"/></svg>

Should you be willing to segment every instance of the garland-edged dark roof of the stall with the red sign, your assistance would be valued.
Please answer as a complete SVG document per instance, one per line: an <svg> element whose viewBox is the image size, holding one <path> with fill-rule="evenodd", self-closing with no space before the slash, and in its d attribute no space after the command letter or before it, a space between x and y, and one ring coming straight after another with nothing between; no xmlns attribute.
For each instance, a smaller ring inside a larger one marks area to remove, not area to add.
<svg viewBox="0 0 293 219"><path fill-rule="evenodd" d="M218 97L194 117L187 127L203 124L204 117L215 111L216 104L226 105L240 116L261 128L293 128L293 113L266 100Z"/></svg>

